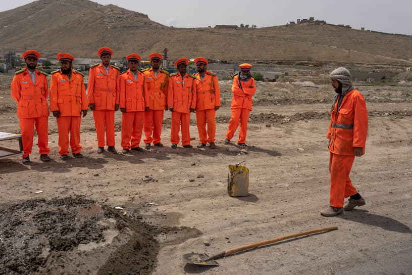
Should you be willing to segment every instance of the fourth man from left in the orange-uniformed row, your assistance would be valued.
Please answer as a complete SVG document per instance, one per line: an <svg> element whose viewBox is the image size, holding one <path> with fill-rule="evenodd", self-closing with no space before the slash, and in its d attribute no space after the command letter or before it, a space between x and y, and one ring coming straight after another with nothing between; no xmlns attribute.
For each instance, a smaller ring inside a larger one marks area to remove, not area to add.
<svg viewBox="0 0 412 275"><path fill-rule="evenodd" d="M130 148L142 151L139 147L143 131L144 111L149 109L149 93L144 74L137 70L140 56L126 57L129 69L120 74L120 111L122 114L122 153ZM131 138L131 145L130 145Z"/></svg>

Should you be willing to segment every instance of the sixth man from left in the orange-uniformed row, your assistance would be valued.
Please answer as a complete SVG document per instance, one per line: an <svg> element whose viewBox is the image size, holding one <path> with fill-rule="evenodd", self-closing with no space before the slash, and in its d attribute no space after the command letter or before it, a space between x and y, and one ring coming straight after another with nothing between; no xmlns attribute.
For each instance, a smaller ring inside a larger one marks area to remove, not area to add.
<svg viewBox="0 0 412 275"><path fill-rule="evenodd" d="M170 141L176 149L179 143L179 124L182 125L182 145L184 148L193 148L190 145L190 113L196 108L196 84L193 75L186 73L187 58L180 58L175 62L178 73L170 74L168 87L168 108L172 112L172 129Z"/></svg>

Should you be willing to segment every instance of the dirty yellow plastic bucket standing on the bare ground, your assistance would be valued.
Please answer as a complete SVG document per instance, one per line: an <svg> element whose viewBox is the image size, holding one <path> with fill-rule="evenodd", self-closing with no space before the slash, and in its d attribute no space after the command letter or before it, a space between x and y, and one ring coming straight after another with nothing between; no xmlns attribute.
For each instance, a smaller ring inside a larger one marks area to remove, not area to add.
<svg viewBox="0 0 412 275"><path fill-rule="evenodd" d="M242 161L243 163L245 161ZM240 164L240 163L239 163ZM228 194L230 197L249 195L249 169L245 166L229 165Z"/></svg>

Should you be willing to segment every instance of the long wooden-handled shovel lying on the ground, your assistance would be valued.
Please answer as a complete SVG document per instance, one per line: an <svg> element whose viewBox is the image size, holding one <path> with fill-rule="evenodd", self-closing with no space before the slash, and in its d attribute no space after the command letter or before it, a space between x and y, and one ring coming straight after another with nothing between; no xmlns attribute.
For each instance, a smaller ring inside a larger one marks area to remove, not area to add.
<svg viewBox="0 0 412 275"><path fill-rule="evenodd" d="M280 242L280 241L287 240L287 239L291 239L291 238L297 238L297 237L301 237L301 236L305 236L305 235L320 233L320 232L324 232L324 231L337 230L337 229L338 229L337 226L323 227L323 228L319 228L319 229L315 229L315 230L305 231L305 232L296 233L296 234L292 234L292 235L287 235L287 236L283 236L283 237L278 237L278 238L275 238L275 239L266 240L266 241L262 241L262 242L258 242L258 243L254 243L254 244L249 244L249 245L245 245L245 246L232 248L232 249L220 252L219 254L213 255L211 257L209 257L207 254L188 253L188 254L183 255L182 260L185 261L186 263L198 264L198 265L219 265L219 263L217 263L217 261L215 261L215 259L222 258L222 257L225 257L225 256L229 256L229 255L232 255L232 254L240 252L240 251L245 251L245 250L255 248L255 247L260 247L260 246L263 246L263 245L273 244L273 243Z"/></svg>

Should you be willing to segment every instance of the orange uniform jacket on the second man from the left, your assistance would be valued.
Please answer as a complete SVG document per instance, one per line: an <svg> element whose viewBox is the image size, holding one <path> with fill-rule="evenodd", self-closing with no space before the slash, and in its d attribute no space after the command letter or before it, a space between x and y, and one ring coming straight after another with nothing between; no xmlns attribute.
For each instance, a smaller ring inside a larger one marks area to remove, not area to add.
<svg viewBox="0 0 412 275"><path fill-rule="evenodd" d="M61 70L52 74L50 81L50 111L60 111L61 116L80 116L87 110L86 90L83 75L73 71L71 81Z"/></svg>

